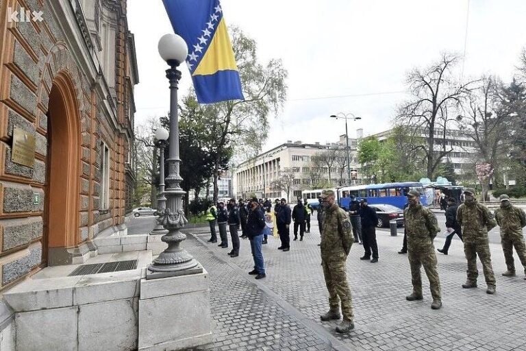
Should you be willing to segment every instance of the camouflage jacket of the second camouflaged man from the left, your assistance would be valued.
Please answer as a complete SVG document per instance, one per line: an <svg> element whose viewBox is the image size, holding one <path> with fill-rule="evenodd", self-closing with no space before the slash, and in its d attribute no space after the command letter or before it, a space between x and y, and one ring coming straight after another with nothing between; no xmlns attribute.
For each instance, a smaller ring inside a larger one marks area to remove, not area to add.
<svg viewBox="0 0 526 351"><path fill-rule="evenodd" d="M440 227L436 216L429 208L421 204L408 206L403 210L403 218L409 250L421 250L433 246L433 239L440 232Z"/></svg>

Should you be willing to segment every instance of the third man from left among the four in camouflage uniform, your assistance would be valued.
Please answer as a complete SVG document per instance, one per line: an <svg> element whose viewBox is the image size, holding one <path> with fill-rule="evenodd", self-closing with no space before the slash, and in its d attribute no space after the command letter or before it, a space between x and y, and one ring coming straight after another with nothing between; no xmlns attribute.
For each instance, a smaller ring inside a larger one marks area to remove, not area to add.
<svg viewBox="0 0 526 351"><path fill-rule="evenodd" d="M488 208L479 204L475 199L475 189L464 190L464 204L458 206L457 221L462 226L462 237L464 239L464 254L468 261L468 280L462 285L464 289L476 288L477 277L477 254L482 263L484 277L486 278L486 293L494 294L495 276L491 267L491 252L488 242L488 232L497 226L493 214Z"/></svg>

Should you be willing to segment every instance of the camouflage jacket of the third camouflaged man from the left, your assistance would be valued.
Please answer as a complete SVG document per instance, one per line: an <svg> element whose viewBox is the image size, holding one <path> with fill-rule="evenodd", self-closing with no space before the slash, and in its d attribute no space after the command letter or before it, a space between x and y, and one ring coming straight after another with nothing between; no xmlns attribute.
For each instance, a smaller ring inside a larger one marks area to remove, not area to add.
<svg viewBox="0 0 526 351"><path fill-rule="evenodd" d="M477 200L458 206L457 222L462 226L462 238L488 237L488 232L497 226L497 221L488 208Z"/></svg>

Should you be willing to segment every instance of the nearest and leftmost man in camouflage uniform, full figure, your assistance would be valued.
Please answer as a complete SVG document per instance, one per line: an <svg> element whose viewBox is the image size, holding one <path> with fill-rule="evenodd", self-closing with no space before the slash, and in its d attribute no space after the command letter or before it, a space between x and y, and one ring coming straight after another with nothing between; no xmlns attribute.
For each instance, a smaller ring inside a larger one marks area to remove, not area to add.
<svg viewBox="0 0 526 351"><path fill-rule="evenodd" d="M321 232L321 265L325 284L329 290L329 312L321 315L322 321L340 319L340 300L343 321L337 332L349 332L353 324L353 300L347 284L345 261L353 245L354 237L349 216L336 204L334 191L324 190L323 228Z"/></svg>

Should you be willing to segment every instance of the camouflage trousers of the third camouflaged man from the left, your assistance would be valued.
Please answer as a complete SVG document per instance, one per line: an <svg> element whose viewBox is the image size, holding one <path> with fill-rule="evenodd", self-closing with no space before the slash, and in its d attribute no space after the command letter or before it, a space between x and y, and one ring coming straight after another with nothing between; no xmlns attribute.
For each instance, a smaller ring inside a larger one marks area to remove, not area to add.
<svg viewBox="0 0 526 351"><path fill-rule="evenodd" d="M479 271L477 269L477 255L482 263L482 270L488 286L495 286L495 275L491 267L491 252L488 237L479 237L475 239L464 236L464 254L468 261L468 281L477 282Z"/></svg>

